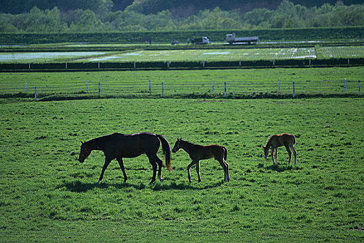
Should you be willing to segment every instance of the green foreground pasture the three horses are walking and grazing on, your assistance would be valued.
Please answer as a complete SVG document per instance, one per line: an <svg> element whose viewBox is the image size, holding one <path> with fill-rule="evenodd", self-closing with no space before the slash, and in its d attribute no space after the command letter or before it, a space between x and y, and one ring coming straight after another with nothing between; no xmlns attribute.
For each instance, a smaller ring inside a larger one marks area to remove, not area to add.
<svg viewBox="0 0 364 243"><path fill-rule="evenodd" d="M139 72L138 72L139 73ZM137 74L137 73L135 73ZM363 242L363 99L100 99L0 103L0 242ZM188 183L189 156L149 185L146 156L80 164L80 140L151 131L227 146ZM261 145L297 136L297 166Z"/></svg>

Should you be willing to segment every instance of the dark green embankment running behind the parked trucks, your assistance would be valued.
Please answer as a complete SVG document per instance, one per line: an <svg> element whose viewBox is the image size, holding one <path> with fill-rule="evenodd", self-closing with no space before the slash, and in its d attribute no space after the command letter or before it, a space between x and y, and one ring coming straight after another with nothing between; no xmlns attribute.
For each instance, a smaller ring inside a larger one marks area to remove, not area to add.
<svg viewBox="0 0 364 243"><path fill-rule="evenodd" d="M58 42L117 42L137 43L152 40L153 42L180 42L187 38L207 36L213 42L225 40L227 33L237 36L259 36L259 40L332 40L363 38L362 27L338 28L288 28L266 30L220 30L220 31L144 31L114 33L1 33L1 44L42 44Z"/></svg>

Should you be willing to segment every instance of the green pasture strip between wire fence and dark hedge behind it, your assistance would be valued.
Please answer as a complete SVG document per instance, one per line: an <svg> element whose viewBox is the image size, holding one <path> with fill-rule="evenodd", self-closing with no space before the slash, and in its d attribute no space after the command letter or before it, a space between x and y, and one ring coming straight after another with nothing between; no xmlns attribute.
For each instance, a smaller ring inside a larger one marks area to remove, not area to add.
<svg viewBox="0 0 364 243"><path fill-rule="evenodd" d="M181 94L201 94L222 97L227 82L229 97L251 94L358 94L358 80L363 80L364 67L220 69L183 71L125 71L125 72L42 72L0 73L0 94L24 93L38 98L98 96L101 97L160 97L164 82L165 97ZM344 92L344 78L346 91ZM281 90L278 90L278 79ZM148 81L151 81L149 92ZM212 81L214 80L214 92ZM89 94L86 94L86 81ZM32 99L33 100L33 99Z"/></svg>

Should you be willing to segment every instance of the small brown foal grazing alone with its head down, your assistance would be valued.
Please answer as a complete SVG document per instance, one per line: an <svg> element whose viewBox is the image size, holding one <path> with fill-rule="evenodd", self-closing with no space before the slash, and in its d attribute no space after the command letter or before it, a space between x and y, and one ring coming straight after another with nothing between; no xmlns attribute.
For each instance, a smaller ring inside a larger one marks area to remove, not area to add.
<svg viewBox="0 0 364 243"><path fill-rule="evenodd" d="M281 135L271 135L268 137L266 146L262 146L264 149L264 158L268 157L269 149L272 147L272 152L270 155L272 156L273 165L277 165L277 151L279 146L285 146L288 152L289 160L288 165L291 163L291 150L293 152L293 156L295 156L295 165L297 163L297 152L295 150L296 138L294 135L284 133ZM275 158L273 158L273 150L275 151Z"/></svg>

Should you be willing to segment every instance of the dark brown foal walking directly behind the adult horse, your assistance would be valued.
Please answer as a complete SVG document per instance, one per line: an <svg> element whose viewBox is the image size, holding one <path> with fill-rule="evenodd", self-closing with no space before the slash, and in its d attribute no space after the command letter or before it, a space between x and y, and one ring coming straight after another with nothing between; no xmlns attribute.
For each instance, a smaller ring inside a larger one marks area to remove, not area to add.
<svg viewBox="0 0 364 243"><path fill-rule="evenodd" d="M201 181L200 160L207 160L208 158L215 158L215 160L218 160L218 162L220 162L220 165L221 167L223 167L224 170L224 181L225 182L230 181L229 165L227 165L227 162L225 162L227 158L227 149L225 148L225 146L220 146L220 145L202 146L182 140L181 137L177 138L175 146L173 146L172 152L175 153L179 149L183 149L184 151L186 151L189 154L189 158L192 159L192 162L187 166L189 174L189 182L191 182L190 169L193 165L196 165L198 182Z"/></svg>

